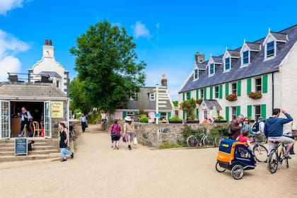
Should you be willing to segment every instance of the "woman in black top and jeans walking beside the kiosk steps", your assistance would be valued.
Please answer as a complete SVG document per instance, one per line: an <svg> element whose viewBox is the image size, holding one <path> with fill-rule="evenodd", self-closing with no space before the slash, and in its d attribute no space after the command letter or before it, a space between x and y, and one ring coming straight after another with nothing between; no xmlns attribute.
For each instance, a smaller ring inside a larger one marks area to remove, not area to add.
<svg viewBox="0 0 297 198"><path fill-rule="evenodd" d="M69 134L66 128L66 125L64 124L64 122L60 122L59 123L59 134L58 136L60 136L60 151L61 151L61 155L62 155L62 162L66 161L66 155L69 155L71 158L74 158L74 153L71 153L70 151L68 151L67 149L67 143L69 140Z"/></svg>

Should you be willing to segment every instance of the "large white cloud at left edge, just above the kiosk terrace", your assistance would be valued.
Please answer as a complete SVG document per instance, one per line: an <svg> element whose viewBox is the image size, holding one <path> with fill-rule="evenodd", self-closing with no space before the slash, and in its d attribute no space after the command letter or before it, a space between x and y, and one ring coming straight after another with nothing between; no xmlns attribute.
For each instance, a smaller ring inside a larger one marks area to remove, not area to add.
<svg viewBox="0 0 297 198"><path fill-rule="evenodd" d="M0 81L7 81L7 72L20 72L21 62L15 55L30 46L0 29Z"/></svg>

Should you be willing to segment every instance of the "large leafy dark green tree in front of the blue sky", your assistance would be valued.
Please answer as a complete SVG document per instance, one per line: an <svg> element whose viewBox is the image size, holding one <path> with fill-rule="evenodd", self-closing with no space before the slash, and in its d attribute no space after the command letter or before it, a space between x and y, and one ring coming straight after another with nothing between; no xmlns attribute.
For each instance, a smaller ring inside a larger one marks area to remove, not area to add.
<svg viewBox="0 0 297 198"><path fill-rule="evenodd" d="M89 104L114 112L144 85L146 64L138 61L132 40L124 28L107 21L91 25L77 38L70 52L76 57L74 69L85 85Z"/></svg>

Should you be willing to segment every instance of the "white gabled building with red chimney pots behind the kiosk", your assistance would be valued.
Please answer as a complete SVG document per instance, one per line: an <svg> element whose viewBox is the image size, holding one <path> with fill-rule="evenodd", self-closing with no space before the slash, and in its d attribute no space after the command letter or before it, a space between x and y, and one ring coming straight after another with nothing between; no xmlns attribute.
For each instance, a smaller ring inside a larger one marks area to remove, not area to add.
<svg viewBox="0 0 297 198"><path fill-rule="evenodd" d="M42 59L33 65L32 69L28 69L31 81L40 81L40 76L48 76L49 81L52 81L54 86L57 86L61 91L68 94L69 90L69 71L66 71L64 66L54 59L54 46L52 40L45 40L45 45L42 46ZM47 82L47 81L42 81Z"/></svg>

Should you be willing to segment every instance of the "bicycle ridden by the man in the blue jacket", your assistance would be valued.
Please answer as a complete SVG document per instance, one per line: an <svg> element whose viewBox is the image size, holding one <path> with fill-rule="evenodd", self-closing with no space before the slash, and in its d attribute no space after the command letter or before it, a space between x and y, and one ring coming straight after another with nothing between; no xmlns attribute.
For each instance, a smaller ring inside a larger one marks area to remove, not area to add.
<svg viewBox="0 0 297 198"><path fill-rule="evenodd" d="M277 144L274 148L270 149L268 152L268 166L270 173L276 173L277 166L284 163L286 164L286 168L289 168L288 157L285 157L286 147L284 143L279 141L272 141L272 143Z"/></svg>

